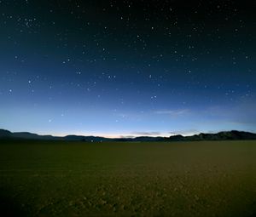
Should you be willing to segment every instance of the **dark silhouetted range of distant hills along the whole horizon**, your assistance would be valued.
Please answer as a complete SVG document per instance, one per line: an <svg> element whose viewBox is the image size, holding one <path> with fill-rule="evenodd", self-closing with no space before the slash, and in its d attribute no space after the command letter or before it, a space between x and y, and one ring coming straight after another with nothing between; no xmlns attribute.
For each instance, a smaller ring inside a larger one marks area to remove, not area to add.
<svg viewBox="0 0 256 217"><path fill-rule="evenodd" d="M256 134L243 131L224 131L217 134L195 134L191 136L172 135L170 137L150 137L141 136L136 138L115 138L109 139L98 136L67 135L52 136L38 135L28 132L12 133L6 129L0 129L0 140L65 140L65 141L87 141L87 142L104 142L104 141L202 141L202 140L256 140Z"/></svg>

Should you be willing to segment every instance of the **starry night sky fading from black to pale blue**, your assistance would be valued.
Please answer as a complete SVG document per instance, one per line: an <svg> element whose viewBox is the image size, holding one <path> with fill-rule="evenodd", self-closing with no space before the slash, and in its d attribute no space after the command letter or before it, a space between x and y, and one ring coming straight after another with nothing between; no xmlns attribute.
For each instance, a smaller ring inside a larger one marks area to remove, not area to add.
<svg viewBox="0 0 256 217"><path fill-rule="evenodd" d="M0 128L256 132L255 11L256 1L0 0Z"/></svg>

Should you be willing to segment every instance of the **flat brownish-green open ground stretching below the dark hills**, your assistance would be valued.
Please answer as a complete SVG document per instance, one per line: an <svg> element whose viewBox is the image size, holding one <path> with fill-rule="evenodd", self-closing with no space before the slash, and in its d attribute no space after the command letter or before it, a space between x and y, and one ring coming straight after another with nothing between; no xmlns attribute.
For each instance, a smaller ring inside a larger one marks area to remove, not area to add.
<svg viewBox="0 0 256 217"><path fill-rule="evenodd" d="M1 216L255 216L256 141L0 141Z"/></svg>

